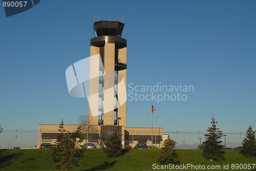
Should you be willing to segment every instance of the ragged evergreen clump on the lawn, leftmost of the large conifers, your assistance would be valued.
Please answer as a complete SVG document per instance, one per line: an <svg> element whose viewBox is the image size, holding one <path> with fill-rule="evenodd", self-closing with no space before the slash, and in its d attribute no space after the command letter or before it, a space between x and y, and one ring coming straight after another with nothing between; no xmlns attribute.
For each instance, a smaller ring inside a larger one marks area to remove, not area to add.
<svg viewBox="0 0 256 171"><path fill-rule="evenodd" d="M76 138L81 137L81 132L78 127L74 133L65 133L63 120L59 124L60 133L52 148L53 161L56 162L55 167L63 170L71 170L74 166L79 166L81 160L81 149L74 148Z"/></svg>

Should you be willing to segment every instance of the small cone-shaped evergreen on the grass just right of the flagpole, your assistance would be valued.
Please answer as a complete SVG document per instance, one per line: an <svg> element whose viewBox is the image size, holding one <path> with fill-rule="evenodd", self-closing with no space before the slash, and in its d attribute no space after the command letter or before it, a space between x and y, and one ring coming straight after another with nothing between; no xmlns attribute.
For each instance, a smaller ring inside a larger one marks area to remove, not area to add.
<svg viewBox="0 0 256 171"><path fill-rule="evenodd" d="M164 140L162 152L158 158L160 164L179 164L179 156L175 152L174 147L176 142L169 138L169 136Z"/></svg>

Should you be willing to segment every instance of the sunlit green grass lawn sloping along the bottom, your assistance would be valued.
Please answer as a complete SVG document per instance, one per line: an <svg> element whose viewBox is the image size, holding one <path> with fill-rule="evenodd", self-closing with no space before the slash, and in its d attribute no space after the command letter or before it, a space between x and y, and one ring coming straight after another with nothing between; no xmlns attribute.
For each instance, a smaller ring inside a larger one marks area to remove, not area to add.
<svg viewBox="0 0 256 171"><path fill-rule="evenodd" d="M117 158L108 158L101 149L87 149L79 167L73 170L153 170L157 164L161 149L131 149ZM255 164L256 158L242 156L238 150L226 150L226 160L211 162L202 157L198 149L177 149L181 163L179 165L220 165L221 169L210 170L256 170L231 169L231 164ZM229 169L223 169L223 164ZM0 170L58 170L54 168L51 158L51 149L1 149ZM169 169L169 170L200 170L200 169Z"/></svg>

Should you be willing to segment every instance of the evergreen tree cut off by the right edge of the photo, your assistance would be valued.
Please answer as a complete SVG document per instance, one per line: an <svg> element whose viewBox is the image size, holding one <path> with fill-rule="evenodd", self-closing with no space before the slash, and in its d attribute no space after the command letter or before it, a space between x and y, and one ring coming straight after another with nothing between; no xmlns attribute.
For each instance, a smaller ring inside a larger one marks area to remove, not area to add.
<svg viewBox="0 0 256 171"><path fill-rule="evenodd" d="M255 131L252 131L251 125L249 125L248 130L246 131L246 138L242 142L241 154L248 157L256 157L256 139Z"/></svg>

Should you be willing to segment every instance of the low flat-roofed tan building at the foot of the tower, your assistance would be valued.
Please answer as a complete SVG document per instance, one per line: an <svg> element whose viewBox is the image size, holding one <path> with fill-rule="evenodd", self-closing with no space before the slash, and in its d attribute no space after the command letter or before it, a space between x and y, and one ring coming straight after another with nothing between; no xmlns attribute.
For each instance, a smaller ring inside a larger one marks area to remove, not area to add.
<svg viewBox="0 0 256 171"><path fill-rule="evenodd" d="M163 140L167 136L163 135L162 127L153 127L153 141L152 141L152 128L151 127L124 127L118 125L64 125L66 133L75 132L77 127L82 128L82 142L91 142L97 148L101 148L102 144L109 135L113 134L116 130L122 135L123 147L134 148L137 143L146 143L148 146L153 144L156 148L161 148ZM119 127L119 129L118 129ZM39 124L38 125L38 146L41 143L48 142L54 144L59 134L58 124Z"/></svg>

